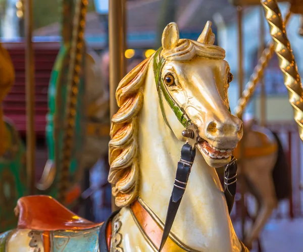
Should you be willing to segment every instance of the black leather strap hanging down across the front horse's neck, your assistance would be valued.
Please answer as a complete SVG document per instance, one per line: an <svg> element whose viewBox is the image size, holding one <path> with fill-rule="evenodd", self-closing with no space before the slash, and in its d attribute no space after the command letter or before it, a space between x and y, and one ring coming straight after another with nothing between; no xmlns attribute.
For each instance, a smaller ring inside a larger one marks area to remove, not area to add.
<svg viewBox="0 0 303 252"><path fill-rule="evenodd" d="M180 161L178 162L175 183L168 205L159 252L161 251L167 240L167 237L170 233L173 222L175 220L177 211L179 209L181 199L186 189L188 177L191 170L191 165L194 161L195 152L196 152L195 148L192 148L191 145L188 143L185 143L181 149L181 158Z"/></svg>

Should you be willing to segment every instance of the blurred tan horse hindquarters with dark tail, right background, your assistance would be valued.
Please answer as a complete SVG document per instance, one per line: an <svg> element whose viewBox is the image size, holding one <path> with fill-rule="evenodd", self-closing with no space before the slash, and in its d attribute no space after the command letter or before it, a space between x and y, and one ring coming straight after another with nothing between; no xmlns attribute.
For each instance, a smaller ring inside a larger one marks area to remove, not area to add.
<svg viewBox="0 0 303 252"><path fill-rule="evenodd" d="M251 248L277 208L278 201L290 195L291 187L286 156L278 136L258 125L253 118L244 120L243 126L244 157L243 165L238 165L238 176L243 176L244 188L257 199L259 205L255 221L244 240L244 244ZM233 153L235 157L239 157L239 148Z"/></svg>

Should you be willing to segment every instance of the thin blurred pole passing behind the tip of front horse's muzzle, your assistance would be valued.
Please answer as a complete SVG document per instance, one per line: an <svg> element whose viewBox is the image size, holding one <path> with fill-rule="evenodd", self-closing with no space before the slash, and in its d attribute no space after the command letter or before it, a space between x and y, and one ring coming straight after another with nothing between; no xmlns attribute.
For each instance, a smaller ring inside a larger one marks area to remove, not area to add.
<svg viewBox="0 0 303 252"><path fill-rule="evenodd" d="M237 6L237 17L238 17L238 85L239 85L239 97L243 92L243 32L242 32L242 22L243 22L243 8L242 6ZM239 117L242 120L242 115ZM243 169L243 154L244 154L244 135L240 141L240 157L239 161ZM246 208L245 208L245 191L244 191L244 179L241 180L241 232L242 239L245 239L245 218L246 218Z"/></svg>

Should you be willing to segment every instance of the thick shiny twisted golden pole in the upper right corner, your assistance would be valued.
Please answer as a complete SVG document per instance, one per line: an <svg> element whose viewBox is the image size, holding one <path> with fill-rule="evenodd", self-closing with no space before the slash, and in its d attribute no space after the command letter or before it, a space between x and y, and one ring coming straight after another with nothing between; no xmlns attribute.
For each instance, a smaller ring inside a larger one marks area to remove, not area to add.
<svg viewBox="0 0 303 252"><path fill-rule="evenodd" d="M262 0L270 34L275 45L275 53L279 59L279 67L283 73L284 84L288 89L289 103L294 112L294 120L298 124L299 136L303 140L303 88L297 70L291 46L281 19L281 12L276 0Z"/></svg>

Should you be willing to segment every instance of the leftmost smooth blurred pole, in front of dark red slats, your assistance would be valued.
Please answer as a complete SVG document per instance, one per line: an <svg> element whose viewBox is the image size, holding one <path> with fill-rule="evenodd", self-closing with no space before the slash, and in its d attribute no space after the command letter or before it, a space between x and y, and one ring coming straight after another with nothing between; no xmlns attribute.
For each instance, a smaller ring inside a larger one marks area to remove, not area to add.
<svg viewBox="0 0 303 252"><path fill-rule="evenodd" d="M32 44L32 0L25 1L26 169L29 193L35 193L35 65Z"/></svg>

